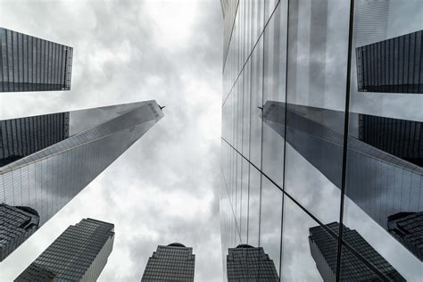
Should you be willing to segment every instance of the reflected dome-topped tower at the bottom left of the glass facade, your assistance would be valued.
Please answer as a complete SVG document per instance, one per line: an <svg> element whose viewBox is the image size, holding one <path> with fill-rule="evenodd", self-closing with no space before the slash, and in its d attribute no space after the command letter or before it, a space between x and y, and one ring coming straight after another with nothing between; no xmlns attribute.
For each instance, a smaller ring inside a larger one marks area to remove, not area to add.
<svg viewBox="0 0 423 282"><path fill-rule="evenodd" d="M263 248L237 245L228 250L228 281L279 281L275 264Z"/></svg>

